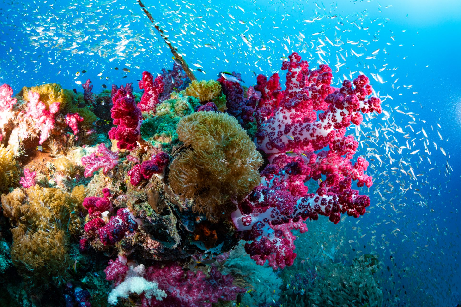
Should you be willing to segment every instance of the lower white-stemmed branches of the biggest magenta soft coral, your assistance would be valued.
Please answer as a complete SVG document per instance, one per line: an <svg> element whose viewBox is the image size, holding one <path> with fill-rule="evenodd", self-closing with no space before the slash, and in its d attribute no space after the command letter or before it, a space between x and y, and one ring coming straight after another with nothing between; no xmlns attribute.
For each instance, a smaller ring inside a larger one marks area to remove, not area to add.
<svg viewBox="0 0 461 307"><path fill-rule="evenodd" d="M296 237L290 230L306 232L303 222L307 218L317 220L319 214L326 215L337 224L341 214L358 217L365 214L370 204L367 196L350 188L350 178L339 180L337 174L329 174L316 194L305 193L297 185L304 182L302 176L310 170L305 169L303 174L303 170L296 169L300 165L289 162L284 168L274 164L266 166L261 173L262 183L232 214L237 231L243 231L243 238L252 241L245 245L247 253L260 265L266 260L274 269L292 265L296 257L293 252ZM300 180L293 180L291 176ZM292 195L290 190L298 195Z"/></svg>

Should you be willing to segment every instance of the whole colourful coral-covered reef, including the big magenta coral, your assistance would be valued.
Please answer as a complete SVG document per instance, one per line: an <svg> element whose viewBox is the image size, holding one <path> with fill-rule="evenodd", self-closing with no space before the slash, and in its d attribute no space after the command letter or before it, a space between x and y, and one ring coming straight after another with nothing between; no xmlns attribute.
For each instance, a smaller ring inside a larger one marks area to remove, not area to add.
<svg viewBox="0 0 461 307"><path fill-rule="evenodd" d="M0 272L18 277L0 300L359 306L349 295L380 306L366 256L314 271L306 262L311 279L296 275L291 292L280 275L307 219L337 224L370 205L352 188L372 178L347 134L381 112L368 78L333 87L329 66L310 69L296 52L284 89L277 73L244 88L237 73L200 81L175 65L143 72L141 91L95 94L88 80L83 93L53 83L13 98L0 87Z"/></svg>

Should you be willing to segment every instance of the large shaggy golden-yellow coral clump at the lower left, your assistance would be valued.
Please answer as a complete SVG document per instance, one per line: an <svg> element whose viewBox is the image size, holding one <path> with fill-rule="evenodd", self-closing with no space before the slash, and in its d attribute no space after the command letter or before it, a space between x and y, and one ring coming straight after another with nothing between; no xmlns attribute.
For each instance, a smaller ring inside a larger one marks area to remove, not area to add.
<svg viewBox="0 0 461 307"><path fill-rule="evenodd" d="M25 193L16 188L2 195L3 214L14 227L11 259L30 286L65 282L72 262L68 254L70 236L81 226L75 211L81 190L79 187L75 195L70 195L35 185Z"/></svg>

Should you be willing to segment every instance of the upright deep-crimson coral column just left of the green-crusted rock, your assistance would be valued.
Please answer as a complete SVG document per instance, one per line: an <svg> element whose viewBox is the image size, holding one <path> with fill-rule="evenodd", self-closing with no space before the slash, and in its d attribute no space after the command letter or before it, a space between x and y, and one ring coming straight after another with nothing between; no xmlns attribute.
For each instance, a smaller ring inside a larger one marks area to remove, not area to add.
<svg viewBox="0 0 461 307"><path fill-rule="evenodd" d="M117 140L118 149L133 150L141 137L141 110L136 106L133 93L126 88L117 91L112 97L112 103L111 116L117 127L111 128L109 138Z"/></svg>

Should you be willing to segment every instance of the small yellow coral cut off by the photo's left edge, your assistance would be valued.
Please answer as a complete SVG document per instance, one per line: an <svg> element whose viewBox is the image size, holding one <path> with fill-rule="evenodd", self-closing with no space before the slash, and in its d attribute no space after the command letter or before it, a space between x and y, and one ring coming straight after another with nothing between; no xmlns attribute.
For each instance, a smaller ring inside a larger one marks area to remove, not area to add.
<svg viewBox="0 0 461 307"><path fill-rule="evenodd" d="M0 192L8 191L8 188L18 184L21 169L14 159L14 151L10 146L0 145Z"/></svg>

